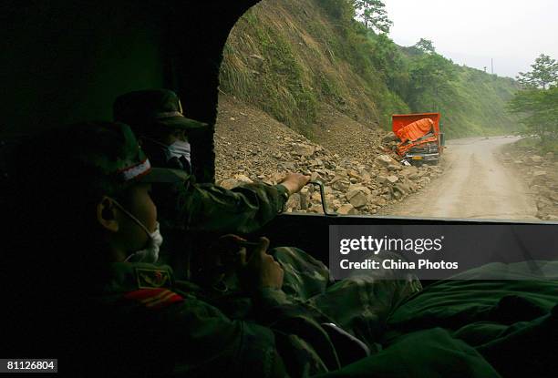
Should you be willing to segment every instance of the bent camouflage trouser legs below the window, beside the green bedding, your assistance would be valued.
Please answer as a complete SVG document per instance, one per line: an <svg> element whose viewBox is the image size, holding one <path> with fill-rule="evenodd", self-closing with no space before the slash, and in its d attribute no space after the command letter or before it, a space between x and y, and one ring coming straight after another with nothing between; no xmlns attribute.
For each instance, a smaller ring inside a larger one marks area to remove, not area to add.
<svg viewBox="0 0 558 378"><path fill-rule="evenodd" d="M394 271L356 271L341 281L333 281L324 263L303 250L282 247L271 250L284 270L283 290L294 300L305 301L319 309L346 332L374 350L386 329L387 316L410 295L421 291L414 274L404 279ZM398 256L385 252L381 261Z"/></svg>

